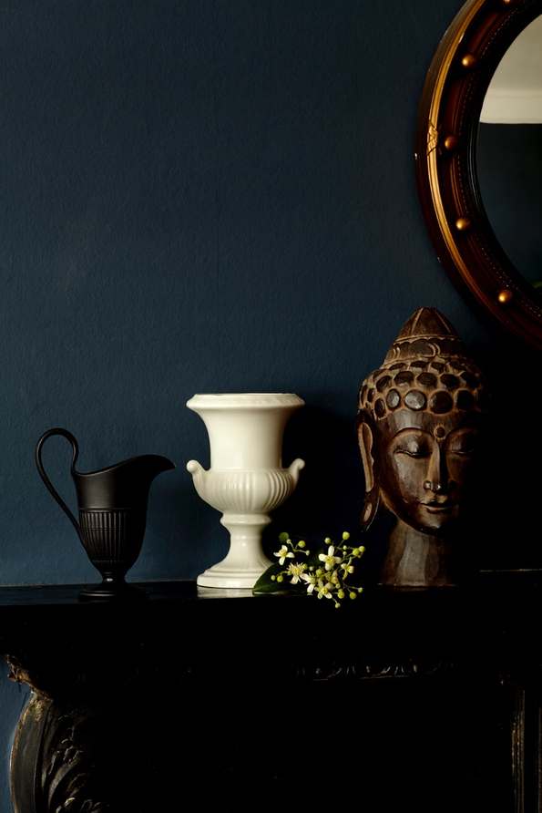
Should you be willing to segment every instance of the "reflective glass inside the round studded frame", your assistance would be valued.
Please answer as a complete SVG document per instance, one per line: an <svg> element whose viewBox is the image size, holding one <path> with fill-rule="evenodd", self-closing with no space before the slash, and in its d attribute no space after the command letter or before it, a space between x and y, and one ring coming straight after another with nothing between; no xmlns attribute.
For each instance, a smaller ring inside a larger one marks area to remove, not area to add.
<svg viewBox="0 0 542 813"><path fill-rule="evenodd" d="M496 68L476 158L496 238L542 299L542 15L516 37Z"/></svg>

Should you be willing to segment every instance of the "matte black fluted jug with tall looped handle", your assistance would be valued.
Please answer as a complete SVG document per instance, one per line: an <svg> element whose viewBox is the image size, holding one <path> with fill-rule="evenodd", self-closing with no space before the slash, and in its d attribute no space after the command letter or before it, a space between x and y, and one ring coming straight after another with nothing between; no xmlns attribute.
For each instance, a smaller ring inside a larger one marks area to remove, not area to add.
<svg viewBox="0 0 542 813"><path fill-rule="evenodd" d="M73 458L71 476L76 484L79 521L59 496L42 461L42 448L53 435L66 437L71 443ZM125 581L125 575L138 559L147 522L148 490L162 471L175 468L168 458L142 455L99 471L76 471L79 447L67 429L49 429L37 442L36 466L46 488L56 499L77 530L88 558L100 571L103 581L89 585L81 597L136 597L138 593Z"/></svg>

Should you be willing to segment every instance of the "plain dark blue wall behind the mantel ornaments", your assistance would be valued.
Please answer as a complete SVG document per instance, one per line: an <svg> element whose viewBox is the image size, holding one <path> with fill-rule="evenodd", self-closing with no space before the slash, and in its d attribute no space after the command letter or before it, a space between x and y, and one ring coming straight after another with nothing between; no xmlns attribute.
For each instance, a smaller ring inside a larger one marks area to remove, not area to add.
<svg viewBox="0 0 542 813"><path fill-rule="evenodd" d="M193 393L306 399L285 458L308 466L272 535L320 536L357 526L357 388L414 308L439 307L497 390L513 389L530 362L456 293L414 184L424 74L460 5L2 4L1 581L96 578L34 468L47 427L77 435L81 468L146 452L177 462L153 486L131 576L189 578L227 547L184 469L208 461ZM509 426L516 401L497 403ZM509 528L524 551L530 520L518 526L510 488L521 437L498 448L498 551ZM62 441L46 459L71 496ZM4 811L22 695L5 683L0 701Z"/></svg>

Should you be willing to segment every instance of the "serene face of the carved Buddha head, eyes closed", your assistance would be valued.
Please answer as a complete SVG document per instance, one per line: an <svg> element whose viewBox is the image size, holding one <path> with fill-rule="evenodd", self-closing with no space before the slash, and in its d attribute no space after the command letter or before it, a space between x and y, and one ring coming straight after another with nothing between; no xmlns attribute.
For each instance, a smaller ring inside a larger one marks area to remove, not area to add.
<svg viewBox="0 0 542 813"><path fill-rule="evenodd" d="M399 520L430 534L459 518L476 450L474 415L399 409L377 425L378 486Z"/></svg>

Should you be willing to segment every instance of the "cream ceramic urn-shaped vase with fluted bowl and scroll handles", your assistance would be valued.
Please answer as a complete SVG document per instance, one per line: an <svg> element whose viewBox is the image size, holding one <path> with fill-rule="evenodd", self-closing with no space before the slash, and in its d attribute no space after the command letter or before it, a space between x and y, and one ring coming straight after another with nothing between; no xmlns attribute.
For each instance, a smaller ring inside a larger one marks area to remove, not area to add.
<svg viewBox="0 0 542 813"><path fill-rule="evenodd" d="M292 412L304 404L287 393L196 395L187 407L203 420L210 440L210 468L187 468L201 499L222 512L230 531L225 559L198 576L200 587L250 589L271 561L261 533L270 511L290 497L305 463L282 468L282 435Z"/></svg>

